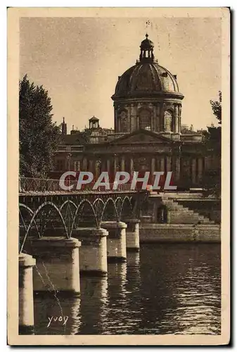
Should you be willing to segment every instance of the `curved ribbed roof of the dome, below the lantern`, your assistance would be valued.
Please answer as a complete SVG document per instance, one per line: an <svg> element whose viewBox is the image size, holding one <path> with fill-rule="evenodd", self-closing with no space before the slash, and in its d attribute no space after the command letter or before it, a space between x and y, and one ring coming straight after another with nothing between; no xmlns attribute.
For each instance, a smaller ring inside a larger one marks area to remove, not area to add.
<svg viewBox="0 0 237 352"><path fill-rule="evenodd" d="M114 96L179 93L176 77L158 63L138 63L119 77Z"/></svg>

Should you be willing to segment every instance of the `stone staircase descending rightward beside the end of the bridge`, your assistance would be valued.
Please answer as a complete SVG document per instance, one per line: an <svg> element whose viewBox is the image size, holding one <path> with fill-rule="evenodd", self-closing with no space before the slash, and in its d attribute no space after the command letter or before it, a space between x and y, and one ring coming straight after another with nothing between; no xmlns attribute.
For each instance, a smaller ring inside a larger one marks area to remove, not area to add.
<svg viewBox="0 0 237 352"><path fill-rule="evenodd" d="M168 209L168 222L170 224L214 225L214 221L193 210L182 206L168 197L162 196L162 204Z"/></svg>

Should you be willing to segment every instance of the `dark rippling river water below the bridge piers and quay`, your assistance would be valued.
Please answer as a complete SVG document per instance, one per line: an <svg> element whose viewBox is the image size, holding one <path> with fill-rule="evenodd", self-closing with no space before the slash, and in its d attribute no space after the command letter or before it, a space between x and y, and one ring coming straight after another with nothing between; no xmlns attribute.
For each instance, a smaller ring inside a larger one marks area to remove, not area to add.
<svg viewBox="0 0 237 352"><path fill-rule="evenodd" d="M220 334L220 272L219 244L141 244L108 277L81 277L79 298L36 296L34 333Z"/></svg>

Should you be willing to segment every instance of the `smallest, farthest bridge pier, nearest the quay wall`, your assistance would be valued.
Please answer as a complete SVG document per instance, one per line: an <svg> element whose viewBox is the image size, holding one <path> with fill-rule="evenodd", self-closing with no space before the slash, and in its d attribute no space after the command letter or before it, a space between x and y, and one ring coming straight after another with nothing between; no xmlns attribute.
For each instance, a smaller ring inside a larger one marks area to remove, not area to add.
<svg viewBox="0 0 237 352"><path fill-rule="evenodd" d="M127 223L126 230L126 248L127 251L138 252L140 248L139 243L139 222L138 219L125 220Z"/></svg>

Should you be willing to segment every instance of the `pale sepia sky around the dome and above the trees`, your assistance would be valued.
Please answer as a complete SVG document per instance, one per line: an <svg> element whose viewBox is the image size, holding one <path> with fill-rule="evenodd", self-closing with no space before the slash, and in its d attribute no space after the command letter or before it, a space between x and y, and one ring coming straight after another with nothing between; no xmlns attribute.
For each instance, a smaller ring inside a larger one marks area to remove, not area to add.
<svg viewBox="0 0 237 352"><path fill-rule="evenodd" d="M221 87L219 18L20 18L20 77L49 92L53 120L79 130L95 115L114 127L117 77L136 63L148 32L158 63L177 75L184 94L181 123L217 120L210 99Z"/></svg>

